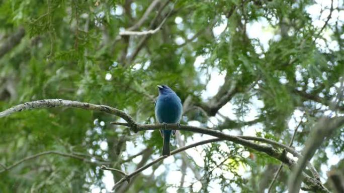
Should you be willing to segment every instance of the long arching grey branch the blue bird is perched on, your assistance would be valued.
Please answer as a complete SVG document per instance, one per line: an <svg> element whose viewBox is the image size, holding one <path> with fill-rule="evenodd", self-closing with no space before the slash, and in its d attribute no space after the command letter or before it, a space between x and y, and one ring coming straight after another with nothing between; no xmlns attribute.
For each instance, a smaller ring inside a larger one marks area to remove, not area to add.
<svg viewBox="0 0 344 193"><path fill-rule="evenodd" d="M33 101L33 102L27 102L24 104L20 104L20 105L14 106L10 109L7 109L7 110L0 112L0 117L8 116L10 114L13 114L15 112L19 112L22 110L35 109L35 108L47 108L47 107L73 107L73 108L82 108L82 109L87 109L87 110L97 110L97 111L101 111L101 112L114 114L114 115L117 115L117 116L123 118L124 120L126 120L128 122L128 127L132 128L134 131L139 131L139 130L145 131L145 130L154 130L154 129L161 129L162 128L162 124L137 124L133 120L133 118L131 116L129 116L128 114L126 114L124 111L118 110L118 109L113 108L113 107L109 107L109 106L105 106L105 105L95 105L95 104L90 104L90 103L82 103L82 102L78 102L78 101L68 101L68 100L62 100L62 99L47 99L47 100L39 100L39 101ZM335 124L333 124L331 122L331 125L329 125L329 127L333 128L335 125L339 125L341 123L344 123L344 117L338 118L338 121L336 121ZM190 126L190 125L167 124L166 129L198 132L198 133L208 134L208 135L212 135L212 136L219 138L216 140L232 141L234 143L241 144L247 148L251 148L251 149L254 149L256 151L264 152L264 153L268 154L269 156L274 157L274 158L282 161L283 163L289 165L289 167L291 167L294 164L294 161L292 159L290 159L289 157L287 157L286 153L283 153L284 151L281 152L281 151L279 151L273 147L273 146L277 146L279 148L285 149L285 151L288 151L288 152L292 153L293 155L298 156L300 159L302 159L302 162L304 164L302 165L302 167L300 167L301 172L302 172L302 170L304 170L305 164L308 164L308 167L312 170L312 166L307 159L308 156L306 156L307 158L303 158L300 155L300 153L295 151L293 148L291 148L287 145L284 145L282 143L276 142L274 140L271 140L271 139L266 139L266 138L262 138L262 137L253 137L253 136L233 136L233 135L224 134L220 131L216 131L216 130L212 130L212 129L205 129L205 128L201 128L201 127L194 127L194 126ZM333 129L329 129L329 130L333 130ZM321 131L323 131L323 130L321 130ZM320 135L322 135L322 134L323 133L320 133ZM261 141L261 142L264 142L267 144L271 144L273 146L257 144L257 143L251 142L250 140ZM184 148L188 148L188 147L189 146L186 146ZM178 152L182 151L184 148L178 149ZM160 160L162 160L162 157L160 157ZM158 162L158 161L159 160L157 160L156 162ZM154 163L150 163L150 165L151 164L154 164ZM146 166L143 166L142 168L143 169L147 168L150 165L148 164ZM323 187L318 180L310 178L303 173L302 173L302 175L304 176L303 181L307 185L309 185L310 187L320 188L320 190L321 190L321 191L319 190L320 192L328 192L327 189L325 187ZM130 176L130 174L128 176ZM125 180L125 179L123 179L123 180Z"/></svg>

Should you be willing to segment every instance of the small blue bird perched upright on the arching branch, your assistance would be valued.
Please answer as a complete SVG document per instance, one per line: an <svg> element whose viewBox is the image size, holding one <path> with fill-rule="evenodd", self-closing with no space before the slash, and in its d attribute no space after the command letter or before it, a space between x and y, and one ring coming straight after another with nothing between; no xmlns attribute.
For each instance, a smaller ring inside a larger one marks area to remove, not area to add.
<svg viewBox="0 0 344 193"><path fill-rule="evenodd" d="M159 96L155 101L155 118L158 123L178 123L182 118L183 104L179 96L168 86L158 85ZM169 139L171 133L175 130L160 129L161 136L163 137L162 155L170 155Z"/></svg>

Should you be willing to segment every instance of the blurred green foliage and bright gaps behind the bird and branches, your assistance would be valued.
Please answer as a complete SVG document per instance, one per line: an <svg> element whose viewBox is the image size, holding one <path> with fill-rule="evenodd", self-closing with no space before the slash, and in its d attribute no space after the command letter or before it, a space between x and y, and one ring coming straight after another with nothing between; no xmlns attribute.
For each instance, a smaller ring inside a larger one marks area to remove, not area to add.
<svg viewBox="0 0 344 193"><path fill-rule="evenodd" d="M301 150L319 117L344 111L343 22L338 0L0 0L0 110L61 98L155 123L156 85L166 84L184 103L182 124L284 144L298 127ZM1 118L4 166L51 150L83 159L47 154L0 170L0 192L105 193L122 175L101 162L129 173L159 157L157 130L110 121L123 120L71 108ZM171 149L209 138L178 132ZM311 160L337 193L343 149L342 127ZM267 192L279 164L216 142L156 163L116 192ZM284 167L271 192L287 192L289 174Z"/></svg>

